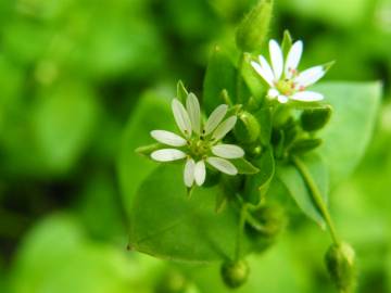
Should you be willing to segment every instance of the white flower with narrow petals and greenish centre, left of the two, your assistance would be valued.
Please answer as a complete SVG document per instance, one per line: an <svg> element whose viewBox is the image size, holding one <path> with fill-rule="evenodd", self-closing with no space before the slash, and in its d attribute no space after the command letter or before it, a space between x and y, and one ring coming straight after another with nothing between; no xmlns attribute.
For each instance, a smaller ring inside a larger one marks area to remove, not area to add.
<svg viewBox="0 0 391 293"><path fill-rule="evenodd" d="M206 123L202 122L200 103L193 93L188 94L186 107L174 99L172 109L181 135L166 130L151 131L155 140L174 146L154 151L151 157L157 162L186 161L184 181L188 188L194 183L204 183L206 164L222 173L237 175L238 169L228 160L242 157L244 151L238 145L222 143L222 139L232 130L237 122L236 116L224 119L228 106L217 106Z"/></svg>

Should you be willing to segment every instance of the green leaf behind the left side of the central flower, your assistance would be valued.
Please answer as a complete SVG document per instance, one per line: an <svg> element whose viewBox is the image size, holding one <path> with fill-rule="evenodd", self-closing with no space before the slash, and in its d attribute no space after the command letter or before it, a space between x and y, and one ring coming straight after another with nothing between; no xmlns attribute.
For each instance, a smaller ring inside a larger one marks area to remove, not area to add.
<svg viewBox="0 0 391 293"><path fill-rule="evenodd" d="M154 142L151 130L173 130L174 125L169 103L165 98L154 92L141 97L125 129L117 162L126 207L130 205L141 181L157 167L155 162L136 153L136 150Z"/></svg>

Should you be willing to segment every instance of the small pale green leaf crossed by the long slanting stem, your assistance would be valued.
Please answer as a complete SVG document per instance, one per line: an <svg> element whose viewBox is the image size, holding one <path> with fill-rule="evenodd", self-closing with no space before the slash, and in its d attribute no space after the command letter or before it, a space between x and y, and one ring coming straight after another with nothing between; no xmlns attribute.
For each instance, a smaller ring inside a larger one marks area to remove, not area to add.
<svg viewBox="0 0 391 293"><path fill-rule="evenodd" d="M329 181L328 170L325 163L321 161L320 156L315 153L303 156L302 161L317 183L324 202L327 203ZM325 220L316 207L313 201L313 196L310 193L308 188L298 168L292 164L280 163L277 165L276 176L285 184L287 191L293 198L299 208L306 216L324 227Z"/></svg>

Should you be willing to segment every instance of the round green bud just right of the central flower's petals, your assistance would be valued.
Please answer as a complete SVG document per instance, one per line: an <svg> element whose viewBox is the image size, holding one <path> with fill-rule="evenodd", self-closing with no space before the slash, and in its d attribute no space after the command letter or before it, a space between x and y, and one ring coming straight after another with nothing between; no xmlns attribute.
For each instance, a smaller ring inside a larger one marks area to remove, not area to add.
<svg viewBox="0 0 391 293"><path fill-rule="evenodd" d="M234 133L239 142L252 143L255 142L261 135L261 125L254 115L247 111L242 111L238 115L238 122L235 126Z"/></svg>

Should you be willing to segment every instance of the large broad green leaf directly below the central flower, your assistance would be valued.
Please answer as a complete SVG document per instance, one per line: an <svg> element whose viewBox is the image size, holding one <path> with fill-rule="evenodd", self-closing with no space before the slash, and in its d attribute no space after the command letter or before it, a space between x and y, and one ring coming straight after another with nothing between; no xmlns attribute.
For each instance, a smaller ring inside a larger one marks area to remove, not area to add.
<svg viewBox="0 0 391 293"><path fill-rule="evenodd" d="M138 190L130 213L130 246L156 257L207 263L232 259L239 215L228 205L215 212L219 187L195 188L191 198L184 167L166 164ZM248 243L243 239L243 252Z"/></svg>

